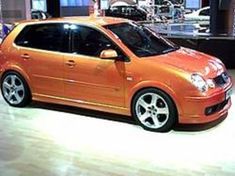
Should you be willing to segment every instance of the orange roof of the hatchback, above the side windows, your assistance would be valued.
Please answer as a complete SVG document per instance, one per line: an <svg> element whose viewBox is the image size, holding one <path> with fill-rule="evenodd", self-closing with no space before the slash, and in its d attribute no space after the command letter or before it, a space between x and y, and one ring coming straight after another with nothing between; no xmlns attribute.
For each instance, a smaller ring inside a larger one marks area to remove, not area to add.
<svg viewBox="0 0 235 176"><path fill-rule="evenodd" d="M18 24L40 24L40 23L79 23L93 26L105 26L118 23L129 22L128 19L114 18L114 17L94 17L94 16L83 16L83 17L64 17L64 18L49 18L46 20L25 20L20 21Z"/></svg>

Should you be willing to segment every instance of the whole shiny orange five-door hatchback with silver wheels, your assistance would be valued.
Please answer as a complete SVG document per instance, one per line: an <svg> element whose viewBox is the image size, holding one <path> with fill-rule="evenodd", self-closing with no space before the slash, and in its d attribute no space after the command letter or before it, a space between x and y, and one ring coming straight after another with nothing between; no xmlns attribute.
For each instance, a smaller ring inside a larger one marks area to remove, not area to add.
<svg viewBox="0 0 235 176"><path fill-rule="evenodd" d="M225 116L232 81L212 56L132 21L71 17L19 23L0 52L2 95L131 115L144 129Z"/></svg>

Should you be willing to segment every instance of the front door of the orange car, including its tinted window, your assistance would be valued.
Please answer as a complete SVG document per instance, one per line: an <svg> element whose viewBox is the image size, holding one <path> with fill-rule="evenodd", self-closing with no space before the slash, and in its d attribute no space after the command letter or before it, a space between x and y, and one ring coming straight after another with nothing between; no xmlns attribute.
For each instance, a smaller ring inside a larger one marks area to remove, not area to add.
<svg viewBox="0 0 235 176"><path fill-rule="evenodd" d="M104 49L116 49L100 31L74 25L72 52L65 56L65 94L70 99L124 106L125 62L101 59Z"/></svg>

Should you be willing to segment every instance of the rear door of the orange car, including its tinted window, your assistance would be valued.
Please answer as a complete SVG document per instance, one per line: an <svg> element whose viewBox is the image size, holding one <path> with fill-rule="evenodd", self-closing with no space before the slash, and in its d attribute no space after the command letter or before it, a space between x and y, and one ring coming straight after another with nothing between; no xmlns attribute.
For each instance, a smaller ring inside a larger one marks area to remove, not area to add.
<svg viewBox="0 0 235 176"><path fill-rule="evenodd" d="M30 77L34 93L60 97L64 94L64 52L69 29L63 23L30 25L16 38L19 58Z"/></svg>

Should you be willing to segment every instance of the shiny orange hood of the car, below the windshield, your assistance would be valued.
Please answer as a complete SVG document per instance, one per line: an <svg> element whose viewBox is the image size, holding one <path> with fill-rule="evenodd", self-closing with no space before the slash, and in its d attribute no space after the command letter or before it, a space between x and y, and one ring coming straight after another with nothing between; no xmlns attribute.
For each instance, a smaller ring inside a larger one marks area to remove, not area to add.
<svg viewBox="0 0 235 176"><path fill-rule="evenodd" d="M149 61L161 62L166 66L169 65L188 73L198 73L205 78L214 78L225 70L219 59L187 48L180 48L154 58Z"/></svg>

